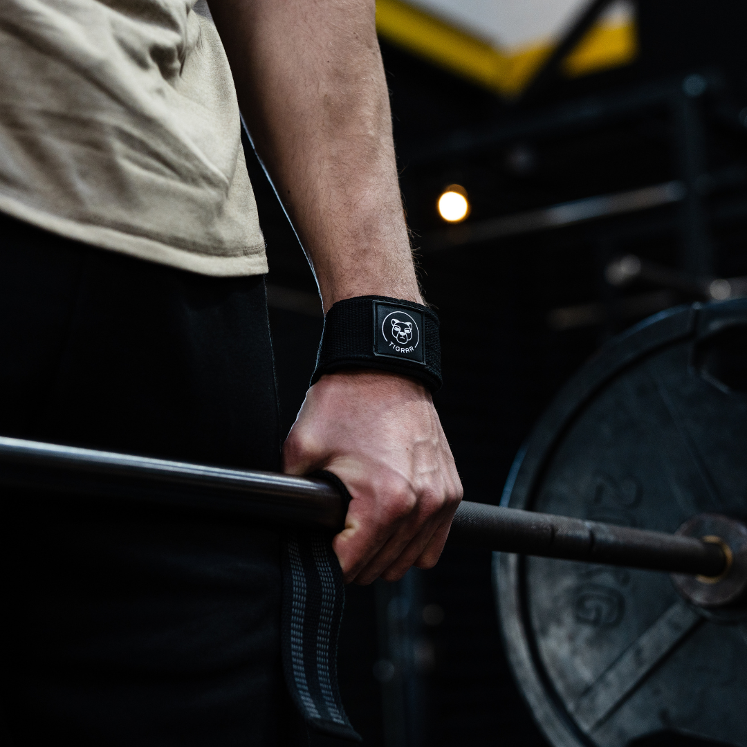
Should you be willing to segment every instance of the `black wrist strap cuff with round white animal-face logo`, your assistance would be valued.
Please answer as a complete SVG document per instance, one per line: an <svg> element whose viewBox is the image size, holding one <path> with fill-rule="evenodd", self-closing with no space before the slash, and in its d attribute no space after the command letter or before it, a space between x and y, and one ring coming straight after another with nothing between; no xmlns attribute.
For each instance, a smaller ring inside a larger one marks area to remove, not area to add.
<svg viewBox="0 0 747 747"><path fill-rule="evenodd" d="M345 368L376 368L420 379L431 391L441 388L438 317L427 306L385 296L338 301L327 311L311 376Z"/></svg>

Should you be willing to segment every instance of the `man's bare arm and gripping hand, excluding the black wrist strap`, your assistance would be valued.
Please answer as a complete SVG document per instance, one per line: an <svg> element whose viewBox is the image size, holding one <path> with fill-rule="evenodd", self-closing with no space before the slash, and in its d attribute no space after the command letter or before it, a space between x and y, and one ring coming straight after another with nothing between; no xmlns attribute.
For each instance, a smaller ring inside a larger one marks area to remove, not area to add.
<svg viewBox="0 0 747 747"><path fill-rule="evenodd" d="M309 256L325 311L381 295L422 303L405 226L373 0L210 0L252 138ZM430 393L384 371L309 389L283 469L350 491L333 542L344 578L438 560L462 495Z"/></svg>

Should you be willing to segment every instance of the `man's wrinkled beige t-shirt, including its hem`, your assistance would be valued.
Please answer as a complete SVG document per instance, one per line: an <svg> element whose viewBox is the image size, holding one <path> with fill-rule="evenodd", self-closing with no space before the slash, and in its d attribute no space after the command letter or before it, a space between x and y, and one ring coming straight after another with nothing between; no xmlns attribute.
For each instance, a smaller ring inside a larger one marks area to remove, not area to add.
<svg viewBox="0 0 747 747"><path fill-rule="evenodd" d="M0 212L206 275L267 272L202 0L0 1Z"/></svg>

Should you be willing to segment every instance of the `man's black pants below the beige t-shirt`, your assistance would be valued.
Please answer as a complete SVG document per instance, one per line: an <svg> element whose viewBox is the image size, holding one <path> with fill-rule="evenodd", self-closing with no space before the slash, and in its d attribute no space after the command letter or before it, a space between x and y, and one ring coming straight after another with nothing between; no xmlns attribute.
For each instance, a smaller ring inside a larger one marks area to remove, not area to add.
<svg viewBox="0 0 747 747"><path fill-rule="evenodd" d="M0 217L0 434L276 470L264 278ZM0 512L11 744L285 741L276 534L7 490Z"/></svg>

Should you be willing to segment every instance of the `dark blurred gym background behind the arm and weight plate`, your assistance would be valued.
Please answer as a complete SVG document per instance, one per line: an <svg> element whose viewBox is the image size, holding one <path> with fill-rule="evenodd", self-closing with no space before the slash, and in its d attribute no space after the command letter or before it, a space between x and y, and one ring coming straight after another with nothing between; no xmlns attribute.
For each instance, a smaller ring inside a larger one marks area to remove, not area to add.
<svg viewBox="0 0 747 747"><path fill-rule="evenodd" d="M745 288L747 5L639 0L637 25L632 64L572 80L551 64L510 104L382 42L421 280L441 317L436 406L469 500L498 503L533 421L607 338ZM248 160L287 432L314 365L320 304ZM436 212L452 183L472 205L456 228ZM598 196L611 197L588 201ZM576 200L593 220L546 227L548 208ZM638 264L617 262L626 255ZM365 745L545 745L503 654L490 561L447 548L433 571L349 589L341 686Z"/></svg>

